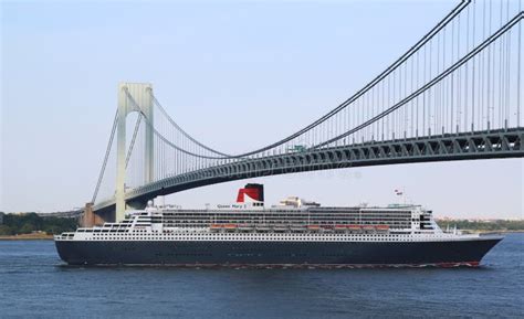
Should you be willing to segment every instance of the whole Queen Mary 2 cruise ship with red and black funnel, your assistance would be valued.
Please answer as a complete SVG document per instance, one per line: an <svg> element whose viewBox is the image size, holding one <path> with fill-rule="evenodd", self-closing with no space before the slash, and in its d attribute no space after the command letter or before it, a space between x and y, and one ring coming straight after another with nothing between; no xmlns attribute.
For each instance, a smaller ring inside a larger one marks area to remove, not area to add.
<svg viewBox="0 0 524 319"><path fill-rule="evenodd" d="M55 236L71 265L478 266L499 235L443 232L419 205L325 208L298 198L264 206L263 187L237 203L184 210L164 204L119 223Z"/></svg>

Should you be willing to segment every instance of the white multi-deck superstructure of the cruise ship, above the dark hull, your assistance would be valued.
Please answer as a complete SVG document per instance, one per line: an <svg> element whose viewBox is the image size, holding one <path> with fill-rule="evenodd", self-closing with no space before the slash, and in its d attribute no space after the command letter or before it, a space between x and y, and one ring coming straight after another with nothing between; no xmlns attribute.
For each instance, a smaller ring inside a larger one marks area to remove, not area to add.
<svg viewBox="0 0 524 319"><path fill-rule="evenodd" d="M322 208L315 203L265 209L252 201L212 210L184 210L156 203L128 212L120 223L78 228L56 240L420 242L478 237L443 232L431 212L420 205Z"/></svg>

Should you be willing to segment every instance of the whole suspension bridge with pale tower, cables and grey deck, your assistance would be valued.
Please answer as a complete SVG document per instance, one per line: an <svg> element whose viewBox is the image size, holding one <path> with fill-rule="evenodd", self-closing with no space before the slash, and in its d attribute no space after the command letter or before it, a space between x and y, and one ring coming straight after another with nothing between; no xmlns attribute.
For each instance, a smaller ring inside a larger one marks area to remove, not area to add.
<svg viewBox="0 0 524 319"><path fill-rule="evenodd" d="M120 221L126 209L157 195L239 179L523 157L523 19L521 1L462 1L347 100L279 141L239 153L185 131L150 84L122 83L84 224Z"/></svg>

